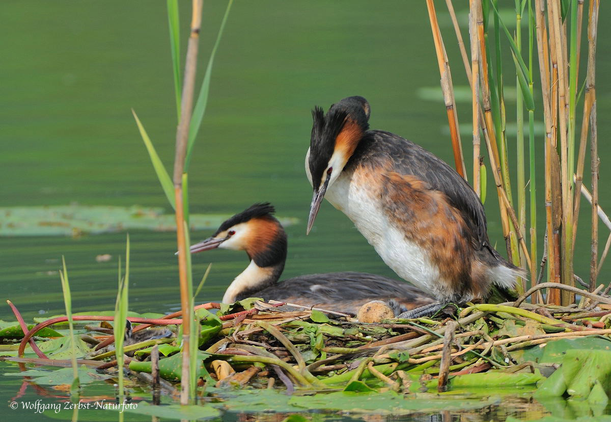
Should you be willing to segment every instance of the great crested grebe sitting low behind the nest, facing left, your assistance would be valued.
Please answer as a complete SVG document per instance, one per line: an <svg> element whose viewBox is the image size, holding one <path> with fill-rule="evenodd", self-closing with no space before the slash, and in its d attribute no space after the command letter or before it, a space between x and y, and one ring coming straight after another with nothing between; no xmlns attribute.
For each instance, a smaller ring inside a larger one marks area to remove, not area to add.
<svg viewBox="0 0 611 422"><path fill-rule="evenodd" d="M364 303L381 300L395 315L434 302L414 286L368 273L310 274L278 282L287 260L287 234L273 213L269 203L254 204L224 221L213 236L191 246L191 253L224 248L246 251L251 259L227 287L222 302L262 297L356 314Z"/></svg>

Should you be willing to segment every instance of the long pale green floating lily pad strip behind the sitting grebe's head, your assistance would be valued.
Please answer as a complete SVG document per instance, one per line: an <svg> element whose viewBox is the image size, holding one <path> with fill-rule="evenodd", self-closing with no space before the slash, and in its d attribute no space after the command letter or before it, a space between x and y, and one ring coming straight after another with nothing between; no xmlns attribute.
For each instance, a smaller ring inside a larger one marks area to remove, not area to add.
<svg viewBox="0 0 611 422"><path fill-rule="evenodd" d="M191 214L192 230L216 229L230 215ZM296 218L280 218L284 225ZM0 236L78 236L130 229L175 231L174 214L162 208L104 205L0 207Z"/></svg>

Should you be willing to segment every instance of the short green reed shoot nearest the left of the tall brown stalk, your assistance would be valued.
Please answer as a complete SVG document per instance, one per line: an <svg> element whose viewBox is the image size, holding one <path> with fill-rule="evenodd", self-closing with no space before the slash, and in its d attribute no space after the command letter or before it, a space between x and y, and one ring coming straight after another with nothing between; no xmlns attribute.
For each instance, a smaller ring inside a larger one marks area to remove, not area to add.
<svg viewBox="0 0 611 422"><path fill-rule="evenodd" d="M122 403L125 397L123 365L125 365L125 355L123 354L123 344L125 343L125 322L127 320L128 297L130 286L130 234L127 235L125 242L125 275L121 274L121 259L119 258L119 289L115 302L114 312L114 344L115 357L117 358L117 375L119 376L119 402Z"/></svg>

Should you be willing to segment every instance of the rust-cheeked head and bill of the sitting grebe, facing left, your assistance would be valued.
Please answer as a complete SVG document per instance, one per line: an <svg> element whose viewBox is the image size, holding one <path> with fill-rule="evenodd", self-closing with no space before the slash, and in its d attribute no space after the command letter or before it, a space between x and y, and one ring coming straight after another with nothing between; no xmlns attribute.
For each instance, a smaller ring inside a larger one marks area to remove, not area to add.
<svg viewBox="0 0 611 422"><path fill-rule="evenodd" d="M215 248L246 251L259 267L276 265L287 259L287 234L273 216L274 207L254 204L225 220L211 237L189 248L191 253Z"/></svg>

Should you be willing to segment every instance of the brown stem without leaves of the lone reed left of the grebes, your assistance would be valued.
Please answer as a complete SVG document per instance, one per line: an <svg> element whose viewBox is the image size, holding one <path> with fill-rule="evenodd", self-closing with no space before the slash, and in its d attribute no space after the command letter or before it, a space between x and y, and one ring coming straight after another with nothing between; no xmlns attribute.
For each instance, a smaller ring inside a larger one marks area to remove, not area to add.
<svg viewBox="0 0 611 422"><path fill-rule="evenodd" d="M183 310L183 360L181 372L180 404L189 402L189 341L191 333L191 298L188 291L187 275L187 246L185 234L185 210L183 209L183 170L185 169L185 156L191 111L193 108L193 95L195 89L195 75L197 68L197 50L199 46L199 30L202 22L202 1L192 0L191 34L187 45L185 61L185 77L181 101L180 121L176 130L176 152L174 158L174 196L176 201L176 234L178 242L178 273L180 275L180 304Z"/></svg>

